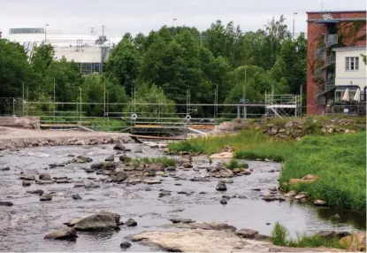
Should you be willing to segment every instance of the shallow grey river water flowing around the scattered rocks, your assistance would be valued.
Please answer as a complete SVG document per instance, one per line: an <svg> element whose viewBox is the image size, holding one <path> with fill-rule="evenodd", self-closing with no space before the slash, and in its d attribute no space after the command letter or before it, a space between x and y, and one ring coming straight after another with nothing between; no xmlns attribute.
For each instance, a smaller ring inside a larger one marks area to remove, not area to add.
<svg viewBox="0 0 367 253"><path fill-rule="evenodd" d="M132 149L129 157L161 157L161 149L151 149L144 144L126 144ZM141 149L142 153L134 153ZM260 234L271 234L272 226L279 221L286 226L292 236L313 234L320 230L354 231L365 229L365 220L348 212L328 208L315 208L308 203L264 202L263 196L269 188L278 187L281 165L271 162L246 161L253 170L250 175L233 177L233 183L226 184L223 193L216 190L218 179L195 182L190 179L207 174L210 166L207 157L194 157L194 168L177 170L169 177L156 176L161 184L135 185L101 182L106 176L86 173L88 164L69 164L50 168L71 159L71 156L86 156L93 162L117 154L113 145L60 146L5 150L0 152L0 169L9 166L9 171L0 171L0 201L9 201L12 206L0 206L0 250L1 251L119 251L120 242L131 234L146 230L177 230L168 219L184 218L196 221L225 222L238 229L250 228ZM116 157L118 161L118 157ZM212 165L223 161L213 160ZM66 176L73 180L94 181L100 188L74 188L73 183L36 185L23 187L20 173L50 173L51 177ZM254 190L254 189L260 190ZM40 197L26 191L42 189L54 192L50 202L40 202ZM170 190L171 196L159 197L160 190ZM179 194L180 192L180 194ZM186 194L185 194L186 193ZM79 194L82 200L73 200ZM219 203L223 195L230 196L226 205ZM238 196L246 196L239 198ZM121 215L121 220L133 218L138 226L121 226L118 232L78 233L75 242L44 240L50 230L65 227L64 222L85 217L96 211L113 211ZM339 214L338 222L333 215ZM159 250L133 242L126 251Z"/></svg>

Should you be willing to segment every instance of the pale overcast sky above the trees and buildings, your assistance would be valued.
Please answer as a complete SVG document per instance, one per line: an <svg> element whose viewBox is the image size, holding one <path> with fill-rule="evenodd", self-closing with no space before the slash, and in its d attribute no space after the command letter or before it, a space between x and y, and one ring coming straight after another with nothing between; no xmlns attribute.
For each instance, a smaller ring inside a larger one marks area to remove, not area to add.
<svg viewBox="0 0 367 253"><path fill-rule="evenodd" d="M244 31L264 27L272 16L284 13L295 33L306 31L306 13L319 11L320 0L0 0L0 31L8 34L11 27L43 27L50 33L89 34L106 27L106 35L119 37L126 32L149 33L164 25L210 27L221 19L231 20ZM365 0L324 0L325 10L365 10Z"/></svg>

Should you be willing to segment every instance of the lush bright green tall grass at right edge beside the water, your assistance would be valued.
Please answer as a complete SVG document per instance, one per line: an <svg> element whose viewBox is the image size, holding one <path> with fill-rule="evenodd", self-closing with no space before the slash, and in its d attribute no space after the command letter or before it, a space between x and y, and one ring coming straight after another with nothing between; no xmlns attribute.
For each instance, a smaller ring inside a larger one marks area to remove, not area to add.
<svg viewBox="0 0 367 253"><path fill-rule="evenodd" d="M366 213L366 133L308 136L286 159L281 182L317 174L312 184L288 186L341 209Z"/></svg>

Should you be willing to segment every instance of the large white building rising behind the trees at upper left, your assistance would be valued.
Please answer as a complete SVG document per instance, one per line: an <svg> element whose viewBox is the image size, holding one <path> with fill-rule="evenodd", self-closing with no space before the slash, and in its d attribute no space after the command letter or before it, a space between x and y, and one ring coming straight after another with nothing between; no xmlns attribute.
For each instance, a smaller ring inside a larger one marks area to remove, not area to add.
<svg viewBox="0 0 367 253"><path fill-rule="evenodd" d="M111 47L107 43L96 43L97 35L65 35L45 32L45 28L11 28L7 39L19 42L27 50L29 57L34 48L42 43L50 43L55 50L55 58L66 58L80 66L81 73L100 73L107 61Z"/></svg>

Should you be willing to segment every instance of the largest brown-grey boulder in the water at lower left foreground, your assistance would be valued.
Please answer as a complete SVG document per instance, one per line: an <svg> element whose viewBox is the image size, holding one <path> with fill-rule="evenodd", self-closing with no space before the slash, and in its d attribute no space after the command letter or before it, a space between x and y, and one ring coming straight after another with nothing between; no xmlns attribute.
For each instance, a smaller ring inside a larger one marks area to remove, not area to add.
<svg viewBox="0 0 367 253"><path fill-rule="evenodd" d="M111 213L98 213L86 218L80 219L73 226L76 230L94 231L94 230L109 230L119 229L115 217Z"/></svg>

